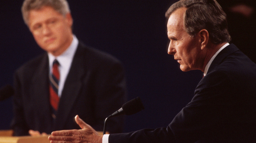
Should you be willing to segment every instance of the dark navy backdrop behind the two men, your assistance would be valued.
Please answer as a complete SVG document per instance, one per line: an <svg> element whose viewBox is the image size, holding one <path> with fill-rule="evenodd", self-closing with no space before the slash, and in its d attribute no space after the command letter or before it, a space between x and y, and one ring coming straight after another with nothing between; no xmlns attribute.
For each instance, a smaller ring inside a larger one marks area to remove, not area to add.
<svg viewBox="0 0 256 143"><path fill-rule="evenodd" d="M0 87L13 72L43 51L24 24L22 0L0 2ZM167 126L192 98L201 71L182 72L167 54L165 11L176 0L68 0L74 34L86 45L117 57L124 65L128 97L145 109L127 116L125 132ZM0 130L9 129L11 98L0 102ZM102 129L103 130L103 129Z"/></svg>

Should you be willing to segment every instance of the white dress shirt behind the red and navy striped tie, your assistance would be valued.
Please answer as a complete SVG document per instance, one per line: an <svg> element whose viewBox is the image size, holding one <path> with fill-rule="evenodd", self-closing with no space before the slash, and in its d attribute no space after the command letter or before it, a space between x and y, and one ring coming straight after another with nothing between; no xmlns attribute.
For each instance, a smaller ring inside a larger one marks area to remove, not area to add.
<svg viewBox="0 0 256 143"><path fill-rule="evenodd" d="M61 97L61 93L62 93L64 84L65 84L66 78L68 76L68 73L70 71L71 63L73 61L73 57L75 55L75 51L77 49L77 46L78 46L78 40L75 37L75 35L73 35L73 40L72 40L71 45L60 56L55 57L51 53L48 53L49 66L50 66L49 73L51 73L52 68L53 68L53 60L57 59L57 61L59 62L59 74L60 74L59 89L58 89L58 96L59 97Z"/></svg>

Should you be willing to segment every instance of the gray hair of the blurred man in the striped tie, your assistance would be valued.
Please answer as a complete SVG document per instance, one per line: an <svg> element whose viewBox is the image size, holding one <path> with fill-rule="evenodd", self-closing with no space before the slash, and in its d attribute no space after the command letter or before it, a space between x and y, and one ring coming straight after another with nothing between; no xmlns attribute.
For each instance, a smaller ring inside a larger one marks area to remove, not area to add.
<svg viewBox="0 0 256 143"><path fill-rule="evenodd" d="M21 7L22 17L25 24L28 25L30 10L37 10L44 6L52 7L63 16L70 13L69 5L66 0L25 0Z"/></svg>

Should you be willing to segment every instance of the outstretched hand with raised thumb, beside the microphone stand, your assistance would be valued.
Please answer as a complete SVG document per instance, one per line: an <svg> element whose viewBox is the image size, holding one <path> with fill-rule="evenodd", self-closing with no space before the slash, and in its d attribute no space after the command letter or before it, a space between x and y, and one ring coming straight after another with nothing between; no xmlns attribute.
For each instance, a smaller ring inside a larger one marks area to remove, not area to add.
<svg viewBox="0 0 256 143"><path fill-rule="evenodd" d="M103 135L99 135L78 115L75 116L75 122L80 126L80 130L54 131L48 139L51 143L102 143Z"/></svg>

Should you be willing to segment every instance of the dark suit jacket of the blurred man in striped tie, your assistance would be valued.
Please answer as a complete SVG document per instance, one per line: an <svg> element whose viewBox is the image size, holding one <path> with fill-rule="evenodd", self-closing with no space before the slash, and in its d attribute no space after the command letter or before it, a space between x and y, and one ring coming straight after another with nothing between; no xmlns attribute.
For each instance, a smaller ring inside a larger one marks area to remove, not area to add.
<svg viewBox="0 0 256 143"><path fill-rule="evenodd" d="M56 130L80 129L75 115L103 130L107 116L125 102L126 83L121 63L114 57L79 42L68 73L55 123L49 102L49 59L47 53L19 68L14 75L14 135L28 130L50 134ZM109 120L107 131L120 133L123 117Z"/></svg>

